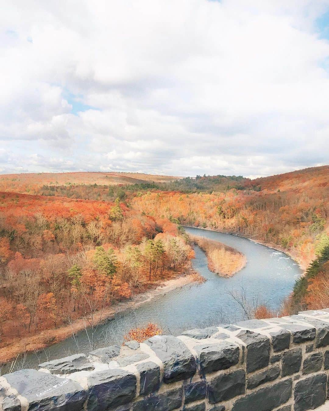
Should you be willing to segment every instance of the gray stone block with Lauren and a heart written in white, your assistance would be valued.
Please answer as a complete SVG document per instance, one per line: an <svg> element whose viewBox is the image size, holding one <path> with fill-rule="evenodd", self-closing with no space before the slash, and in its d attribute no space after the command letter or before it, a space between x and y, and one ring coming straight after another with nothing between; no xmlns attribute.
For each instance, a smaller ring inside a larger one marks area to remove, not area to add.
<svg viewBox="0 0 329 411"><path fill-rule="evenodd" d="M4 375L12 388L28 400L29 411L81 411L85 391L80 384L35 369Z"/></svg>

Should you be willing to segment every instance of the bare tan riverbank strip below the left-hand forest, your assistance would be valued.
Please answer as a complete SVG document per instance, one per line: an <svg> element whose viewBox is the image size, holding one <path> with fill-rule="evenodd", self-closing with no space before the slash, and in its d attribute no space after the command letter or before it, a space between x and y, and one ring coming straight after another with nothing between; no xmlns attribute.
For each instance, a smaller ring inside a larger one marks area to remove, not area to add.
<svg viewBox="0 0 329 411"><path fill-rule="evenodd" d="M100 321L101 323L105 323L108 319L112 319L115 314L122 313L128 309L136 309L140 305L145 304L158 296L164 295L192 282L196 282L196 272L190 265L188 265L185 267L185 270L177 272L176 277L154 282L150 284L152 287L151 289L136 294L129 300L115 302L110 307L104 309L103 312L97 312L94 321L95 323L98 322L99 316L101 315ZM67 339L84 329L85 321L81 318L75 320L70 325L63 325L59 328L44 330L36 335L28 337L17 337L12 343L6 344L0 348L0 364L6 364L15 360L22 354L33 353L45 349L46 347Z"/></svg>

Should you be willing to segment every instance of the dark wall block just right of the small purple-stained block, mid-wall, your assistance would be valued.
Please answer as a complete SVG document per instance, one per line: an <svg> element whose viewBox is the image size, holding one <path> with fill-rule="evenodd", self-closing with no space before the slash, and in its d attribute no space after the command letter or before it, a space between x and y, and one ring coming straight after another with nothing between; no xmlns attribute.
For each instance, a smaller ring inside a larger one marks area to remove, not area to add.
<svg viewBox="0 0 329 411"><path fill-rule="evenodd" d="M234 398L244 394L246 374L243 369L221 374L208 382L208 401L210 404Z"/></svg>

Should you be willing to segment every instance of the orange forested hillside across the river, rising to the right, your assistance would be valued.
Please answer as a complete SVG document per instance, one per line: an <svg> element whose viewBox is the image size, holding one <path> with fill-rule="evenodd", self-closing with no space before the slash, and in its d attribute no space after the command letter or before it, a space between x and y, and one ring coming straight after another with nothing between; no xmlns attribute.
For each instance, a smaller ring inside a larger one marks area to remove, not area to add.
<svg viewBox="0 0 329 411"><path fill-rule="evenodd" d="M329 167L244 183L212 194L153 191L132 203L145 214L275 245L306 267L328 238Z"/></svg>

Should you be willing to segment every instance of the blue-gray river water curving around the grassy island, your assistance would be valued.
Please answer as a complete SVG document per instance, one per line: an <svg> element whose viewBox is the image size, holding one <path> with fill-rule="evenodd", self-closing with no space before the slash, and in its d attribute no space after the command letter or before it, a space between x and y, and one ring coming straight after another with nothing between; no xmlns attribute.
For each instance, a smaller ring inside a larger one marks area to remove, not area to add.
<svg viewBox="0 0 329 411"><path fill-rule="evenodd" d="M239 304L229 291L241 293L244 289L248 302L266 304L277 310L283 298L292 291L295 280L301 275L298 264L288 255L255 243L247 238L216 231L186 227L187 233L223 242L242 252L246 266L230 278L219 277L208 270L207 258L195 247L193 268L207 279L203 284L188 284L154 298L134 310L117 314L97 330L97 348L114 343L122 344L123 335L134 327L149 321L157 323L166 333L179 335L182 330L200 328L244 319ZM24 367L37 367L39 361L53 360L73 353L90 350L85 331L73 338L55 344L45 352L29 354Z"/></svg>

